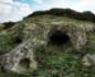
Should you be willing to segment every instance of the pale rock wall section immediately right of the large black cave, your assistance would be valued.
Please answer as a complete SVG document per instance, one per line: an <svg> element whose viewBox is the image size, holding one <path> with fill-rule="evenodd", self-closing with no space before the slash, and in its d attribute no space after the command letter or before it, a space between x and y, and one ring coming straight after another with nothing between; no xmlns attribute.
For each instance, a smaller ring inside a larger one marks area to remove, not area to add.
<svg viewBox="0 0 95 77"><path fill-rule="evenodd" d="M75 50L81 50L87 43L86 32L82 28L73 28L71 30L71 42Z"/></svg>

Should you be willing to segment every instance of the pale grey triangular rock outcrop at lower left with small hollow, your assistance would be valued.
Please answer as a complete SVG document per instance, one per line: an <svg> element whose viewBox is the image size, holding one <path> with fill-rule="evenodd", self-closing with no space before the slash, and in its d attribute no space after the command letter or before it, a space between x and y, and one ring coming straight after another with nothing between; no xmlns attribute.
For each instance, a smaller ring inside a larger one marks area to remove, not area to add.
<svg viewBox="0 0 95 77"><path fill-rule="evenodd" d="M19 74L33 72L38 67L30 40L23 42L10 53L0 56L0 62L1 70L11 70Z"/></svg>

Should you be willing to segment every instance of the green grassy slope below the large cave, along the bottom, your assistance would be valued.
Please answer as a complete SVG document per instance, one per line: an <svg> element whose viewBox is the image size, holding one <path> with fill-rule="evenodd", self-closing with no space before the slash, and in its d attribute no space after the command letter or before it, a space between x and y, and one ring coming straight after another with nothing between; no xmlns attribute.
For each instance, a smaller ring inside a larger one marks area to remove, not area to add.
<svg viewBox="0 0 95 77"><path fill-rule="evenodd" d="M36 50L34 53L39 63L36 72L29 75L0 73L0 77L95 77L95 69L82 65L81 54L53 48L40 47Z"/></svg>

